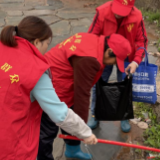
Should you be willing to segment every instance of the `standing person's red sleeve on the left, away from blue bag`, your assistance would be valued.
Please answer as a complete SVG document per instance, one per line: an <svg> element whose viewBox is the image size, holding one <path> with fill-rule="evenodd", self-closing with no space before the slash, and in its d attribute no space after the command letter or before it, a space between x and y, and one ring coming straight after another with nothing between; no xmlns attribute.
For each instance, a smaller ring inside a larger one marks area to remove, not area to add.
<svg viewBox="0 0 160 160"><path fill-rule="evenodd" d="M99 20L99 12L97 11L96 15L94 16L93 22L89 27L88 33L101 35L102 32L101 26L103 26L101 23L102 22Z"/></svg>

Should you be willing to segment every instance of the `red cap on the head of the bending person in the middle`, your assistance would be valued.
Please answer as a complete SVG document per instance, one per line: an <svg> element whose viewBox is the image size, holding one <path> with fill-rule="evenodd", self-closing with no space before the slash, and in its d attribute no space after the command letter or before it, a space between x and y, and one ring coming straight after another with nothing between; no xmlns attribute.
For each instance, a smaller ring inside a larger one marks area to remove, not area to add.
<svg viewBox="0 0 160 160"><path fill-rule="evenodd" d="M132 51L129 41L119 34L112 34L107 42L109 48L111 48L116 55L119 70L124 72L124 61Z"/></svg>

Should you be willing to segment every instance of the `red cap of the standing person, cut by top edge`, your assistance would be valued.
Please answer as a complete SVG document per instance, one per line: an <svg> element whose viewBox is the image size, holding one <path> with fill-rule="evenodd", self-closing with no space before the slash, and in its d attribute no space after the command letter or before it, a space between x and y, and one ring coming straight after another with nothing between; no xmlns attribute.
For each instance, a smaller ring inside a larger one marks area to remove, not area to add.
<svg viewBox="0 0 160 160"><path fill-rule="evenodd" d="M126 17L132 10L135 0L113 0L112 12L119 16Z"/></svg>

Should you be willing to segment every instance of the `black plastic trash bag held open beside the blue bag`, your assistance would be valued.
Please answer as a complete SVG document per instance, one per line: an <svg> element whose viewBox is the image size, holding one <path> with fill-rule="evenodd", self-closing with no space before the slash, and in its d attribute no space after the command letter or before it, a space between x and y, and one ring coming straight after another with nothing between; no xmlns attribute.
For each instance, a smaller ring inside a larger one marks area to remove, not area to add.
<svg viewBox="0 0 160 160"><path fill-rule="evenodd" d="M134 118L132 76L122 82L96 84L95 118L99 121L121 121Z"/></svg>

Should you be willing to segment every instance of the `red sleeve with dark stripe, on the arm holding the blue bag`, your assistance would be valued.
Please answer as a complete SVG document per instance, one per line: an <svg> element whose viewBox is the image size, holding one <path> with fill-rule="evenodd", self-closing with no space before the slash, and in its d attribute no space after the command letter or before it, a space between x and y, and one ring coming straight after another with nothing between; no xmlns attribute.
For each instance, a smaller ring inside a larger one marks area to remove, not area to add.
<svg viewBox="0 0 160 160"><path fill-rule="evenodd" d="M144 47L147 49L147 45L148 45L148 39L147 39L146 29L145 29L143 20L141 20L141 22L138 26L138 31L137 31L135 43L136 43L136 53L135 53L133 61L140 64L145 56L145 52L143 49L140 49L138 51L137 51L137 49L139 47Z"/></svg>

